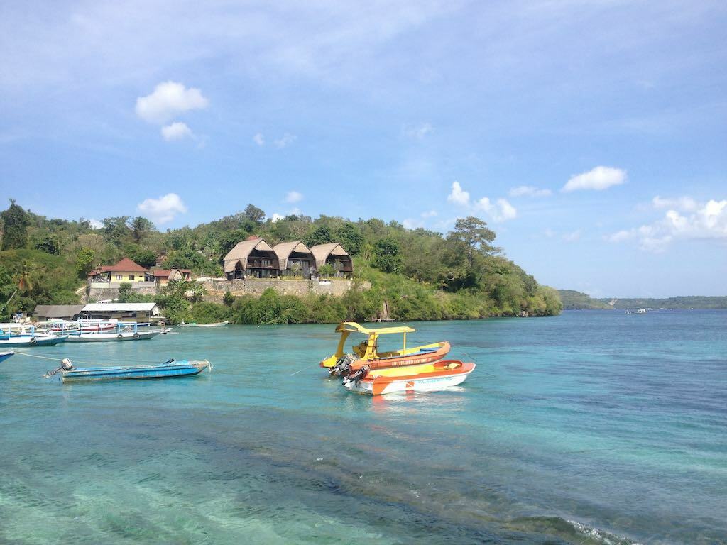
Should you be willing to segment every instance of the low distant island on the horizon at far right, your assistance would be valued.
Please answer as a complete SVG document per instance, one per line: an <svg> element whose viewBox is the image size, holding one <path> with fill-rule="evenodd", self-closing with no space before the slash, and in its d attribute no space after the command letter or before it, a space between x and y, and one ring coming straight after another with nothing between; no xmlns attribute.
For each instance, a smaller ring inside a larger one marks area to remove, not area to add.
<svg viewBox="0 0 727 545"><path fill-rule="evenodd" d="M716 310L727 309L727 296L680 296L654 299L651 297L635 297L617 299L604 297L594 299L588 294L572 289L560 289L564 310L633 310L638 308L675 309L675 310Z"/></svg>

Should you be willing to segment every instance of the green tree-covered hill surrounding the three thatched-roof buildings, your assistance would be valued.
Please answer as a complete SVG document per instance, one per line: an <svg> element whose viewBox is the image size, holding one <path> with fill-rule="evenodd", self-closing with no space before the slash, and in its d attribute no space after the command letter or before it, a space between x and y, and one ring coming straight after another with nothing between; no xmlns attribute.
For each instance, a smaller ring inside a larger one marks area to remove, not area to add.
<svg viewBox="0 0 727 545"><path fill-rule="evenodd" d="M143 217L110 217L94 229L83 218L48 219L11 201L0 224L0 312L5 318L30 312L35 304L77 301L74 290L84 286L89 270L121 257L151 267L165 251L165 268L222 275L222 257L250 235L271 245L298 239L308 246L340 242L353 256L355 283L365 280L371 288L310 300L275 293L257 299L230 296L225 305L198 302L198 296L182 301L188 291L170 288L157 297L164 313L173 319L294 323L369 320L384 306L396 320L543 316L562 308L558 292L540 286L507 259L493 246L494 231L475 217L457 220L454 230L442 235L375 218L291 215L273 221L251 204L214 222L160 232ZM134 294L126 291L124 297Z"/></svg>

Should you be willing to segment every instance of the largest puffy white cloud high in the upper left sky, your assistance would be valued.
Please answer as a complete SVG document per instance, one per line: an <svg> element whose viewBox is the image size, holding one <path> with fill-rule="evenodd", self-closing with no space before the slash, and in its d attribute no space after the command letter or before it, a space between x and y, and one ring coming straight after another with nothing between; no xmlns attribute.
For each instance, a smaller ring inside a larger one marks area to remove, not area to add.
<svg viewBox="0 0 727 545"><path fill-rule="evenodd" d="M165 81L158 84L151 94L137 98L136 113L149 123L164 124L179 113L201 110L207 105L209 101L199 89L187 89L176 81Z"/></svg>

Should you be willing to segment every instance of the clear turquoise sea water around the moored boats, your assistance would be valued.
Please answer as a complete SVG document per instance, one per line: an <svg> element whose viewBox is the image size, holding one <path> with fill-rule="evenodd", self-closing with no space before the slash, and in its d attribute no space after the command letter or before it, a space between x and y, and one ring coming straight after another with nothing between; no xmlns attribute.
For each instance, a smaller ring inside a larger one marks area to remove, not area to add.
<svg viewBox="0 0 727 545"><path fill-rule="evenodd" d="M727 542L727 312L416 324L478 363L372 399L324 378L334 326L66 344L207 358L190 379L65 385L0 364L2 544Z"/></svg>

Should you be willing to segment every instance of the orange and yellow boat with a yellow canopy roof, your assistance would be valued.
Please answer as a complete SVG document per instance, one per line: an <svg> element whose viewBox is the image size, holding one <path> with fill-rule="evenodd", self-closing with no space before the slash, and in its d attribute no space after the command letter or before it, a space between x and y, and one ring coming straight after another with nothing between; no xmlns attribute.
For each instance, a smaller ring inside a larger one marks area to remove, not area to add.
<svg viewBox="0 0 727 545"><path fill-rule="evenodd" d="M406 347L406 334L417 331L408 326L369 329L356 322L340 323L336 332L341 334L336 353L321 361L321 367L328 368L329 374L345 376L358 371L361 366L384 368L398 366L414 366L420 363L432 363L441 360L449 353L449 342L435 342L419 347ZM352 333L364 334L366 339L353 347L352 354L346 354L345 344ZM401 334L403 344L399 350L379 352L379 336Z"/></svg>

